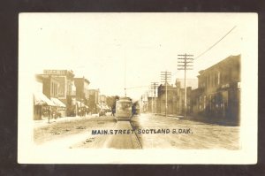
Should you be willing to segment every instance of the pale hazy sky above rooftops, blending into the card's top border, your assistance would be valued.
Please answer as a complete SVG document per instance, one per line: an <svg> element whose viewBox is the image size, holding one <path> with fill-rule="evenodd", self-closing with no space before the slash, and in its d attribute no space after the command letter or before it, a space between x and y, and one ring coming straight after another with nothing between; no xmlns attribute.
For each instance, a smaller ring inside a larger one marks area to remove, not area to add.
<svg viewBox="0 0 265 176"><path fill-rule="evenodd" d="M230 55L251 56L254 13L20 13L19 62L33 73L71 69L107 96L140 97L160 73L178 72L178 54L198 57L188 78ZM249 53L247 52L248 50ZM244 59L244 57L243 57ZM245 58L248 59L248 58ZM141 88L134 88L141 87Z"/></svg>

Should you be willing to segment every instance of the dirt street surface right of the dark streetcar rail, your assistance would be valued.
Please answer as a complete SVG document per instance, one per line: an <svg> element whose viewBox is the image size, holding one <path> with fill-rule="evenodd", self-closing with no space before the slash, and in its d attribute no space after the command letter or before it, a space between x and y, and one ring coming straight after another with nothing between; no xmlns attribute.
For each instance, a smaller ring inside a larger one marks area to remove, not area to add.
<svg viewBox="0 0 265 176"><path fill-rule="evenodd" d="M143 149L239 149L239 126L219 126L151 114L134 117L132 125L140 130L138 136ZM159 134L159 129L167 129L169 133Z"/></svg>

